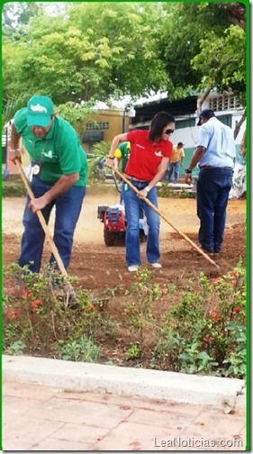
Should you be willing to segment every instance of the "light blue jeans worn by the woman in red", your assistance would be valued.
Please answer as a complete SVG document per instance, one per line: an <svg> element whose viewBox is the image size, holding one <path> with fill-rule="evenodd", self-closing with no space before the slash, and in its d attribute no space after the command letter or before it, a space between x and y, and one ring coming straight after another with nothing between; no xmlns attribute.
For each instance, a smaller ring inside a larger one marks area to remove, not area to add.
<svg viewBox="0 0 253 454"><path fill-rule="evenodd" d="M149 181L142 183L131 180L131 184L139 191L148 186ZM122 197L125 205L125 213L127 220L126 231L126 263L127 266L140 265L140 228L139 218L140 209L144 210L149 225L149 233L147 238L147 259L149 263L155 263L160 257L159 252L159 225L160 220L156 213L144 200L137 197L136 193L130 186L122 183ZM157 188L153 187L149 191L149 201L158 207Z"/></svg>

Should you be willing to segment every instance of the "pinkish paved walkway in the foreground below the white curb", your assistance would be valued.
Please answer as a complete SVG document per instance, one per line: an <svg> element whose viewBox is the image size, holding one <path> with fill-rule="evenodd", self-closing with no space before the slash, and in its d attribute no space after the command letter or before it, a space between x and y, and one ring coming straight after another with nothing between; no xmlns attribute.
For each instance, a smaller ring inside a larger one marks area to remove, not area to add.
<svg viewBox="0 0 253 454"><path fill-rule="evenodd" d="M245 413L5 381L5 451L245 450Z"/></svg>

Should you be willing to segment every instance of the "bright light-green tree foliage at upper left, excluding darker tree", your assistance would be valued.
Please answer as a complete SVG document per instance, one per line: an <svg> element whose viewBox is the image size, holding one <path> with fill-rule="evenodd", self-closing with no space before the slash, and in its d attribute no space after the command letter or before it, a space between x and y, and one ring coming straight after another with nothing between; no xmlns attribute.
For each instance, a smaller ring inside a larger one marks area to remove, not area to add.
<svg viewBox="0 0 253 454"><path fill-rule="evenodd" d="M140 4L80 3L53 20L32 18L19 41L4 41L4 97L43 93L64 104L162 88L167 75L153 50L158 8L153 13L154 5L142 4L140 14Z"/></svg>

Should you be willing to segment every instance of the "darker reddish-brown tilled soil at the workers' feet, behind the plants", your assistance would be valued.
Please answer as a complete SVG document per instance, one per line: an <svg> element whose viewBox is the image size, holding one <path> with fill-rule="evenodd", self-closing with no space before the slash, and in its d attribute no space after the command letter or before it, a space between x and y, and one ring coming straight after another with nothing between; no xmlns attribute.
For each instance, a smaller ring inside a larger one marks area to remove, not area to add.
<svg viewBox="0 0 253 454"><path fill-rule="evenodd" d="M187 235L197 245L197 233ZM217 261L220 270L204 259L203 256L185 241L178 233L168 233L167 239L161 241L161 270L152 270L152 279L160 284L180 282L203 271L207 276L216 276L234 268L239 259L245 261L245 225L235 224L226 231L221 258ZM145 258L146 243L140 245L142 266L149 267ZM4 234L3 262L4 265L14 263L20 251L20 237ZM49 257L50 249L45 248L45 257ZM77 277L80 286L86 289L101 290L123 285L131 286L134 275L125 266L125 249L123 246L107 248L75 244L68 274Z"/></svg>

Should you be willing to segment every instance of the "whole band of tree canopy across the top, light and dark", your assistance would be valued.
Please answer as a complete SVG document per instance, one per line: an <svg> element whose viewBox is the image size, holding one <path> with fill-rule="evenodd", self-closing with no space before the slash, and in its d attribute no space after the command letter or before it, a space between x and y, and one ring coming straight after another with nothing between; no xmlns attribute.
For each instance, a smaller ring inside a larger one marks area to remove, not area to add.
<svg viewBox="0 0 253 454"><path fill-rule="evenodd" d="M54 15L49 5L3 6L4 104L23 93L66 104L213 87L245 103L245 5L63 3Z"/></svg>

